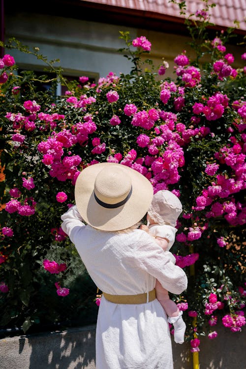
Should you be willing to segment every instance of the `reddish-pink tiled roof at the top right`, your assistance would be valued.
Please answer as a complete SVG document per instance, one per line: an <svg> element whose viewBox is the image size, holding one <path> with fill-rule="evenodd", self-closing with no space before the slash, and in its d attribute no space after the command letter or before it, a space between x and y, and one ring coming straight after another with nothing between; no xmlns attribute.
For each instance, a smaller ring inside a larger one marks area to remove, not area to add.
<svg viewBox="0 0 246 369"><path fill-rule="evenodd" d="M84 0L81 0L82 2ZM86 0L108 6L122 7L125 10L140 10L148 13L160 14L170 20L180 19L179 6L169 0ZM210 10L210 21L220 27L235 27L234 21L238 21L239 29L246 31L246 0L210 0L216 6ZM204 8L202 0L186 0L186 14L195 13ZM150 14L149 14L150 15Z"/></svg>

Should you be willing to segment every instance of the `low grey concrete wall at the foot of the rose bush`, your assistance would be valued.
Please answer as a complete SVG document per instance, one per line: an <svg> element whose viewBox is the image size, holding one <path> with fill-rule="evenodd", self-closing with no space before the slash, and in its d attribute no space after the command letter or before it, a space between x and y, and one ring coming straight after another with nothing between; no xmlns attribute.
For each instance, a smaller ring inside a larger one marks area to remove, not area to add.
<svg viewBox="0 0 246 369"><path fill-rule="evenodd" d="M246 369L246 329L216 326L201 338L200 369ZM173 342L174 369L192 369L189 344ZM0 339L0 369L95 369L95 326Z"/></svg>

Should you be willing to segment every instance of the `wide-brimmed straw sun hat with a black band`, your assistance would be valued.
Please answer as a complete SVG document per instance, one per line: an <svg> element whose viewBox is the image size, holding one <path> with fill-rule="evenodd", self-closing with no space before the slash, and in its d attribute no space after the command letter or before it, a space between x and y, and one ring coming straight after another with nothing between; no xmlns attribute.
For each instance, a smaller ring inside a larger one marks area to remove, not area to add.
<svg viewBox="0 0 246 369"><path fill-rule="evenodd" d="M134 169L116 163L93 164L75 184L75 203L82 218L105 231L128 228L147 213L152 184Z"/></svg>

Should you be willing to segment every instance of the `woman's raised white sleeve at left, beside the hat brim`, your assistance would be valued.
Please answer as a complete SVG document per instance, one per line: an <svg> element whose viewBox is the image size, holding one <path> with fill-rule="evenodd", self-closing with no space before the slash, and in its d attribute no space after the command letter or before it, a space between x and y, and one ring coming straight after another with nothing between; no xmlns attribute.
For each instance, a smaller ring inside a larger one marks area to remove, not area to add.
<svg viewBox="0 0 246 369"><path fill-rule="evenodd" d="M85 227L83 219L76 205L72 206L66 213L62 214L62 230L68 235L72 243L75 243L76 234Z"/></svg>

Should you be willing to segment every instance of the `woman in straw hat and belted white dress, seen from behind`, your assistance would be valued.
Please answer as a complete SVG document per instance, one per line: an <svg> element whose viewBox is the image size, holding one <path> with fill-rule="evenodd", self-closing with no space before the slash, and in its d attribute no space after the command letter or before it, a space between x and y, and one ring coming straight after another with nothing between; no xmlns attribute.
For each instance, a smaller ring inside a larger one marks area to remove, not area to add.
<svg viewBox="0 0 246 369"><path fill-rule="evenodd" d="M76 206L62 215L63 231L103 291L97 369L173 368L167 316L155 299L154 284L157 278L180 294L187 278L150 235L137 229L152 198L152 185L137 171L99 163L81 172Z"/></svg>

